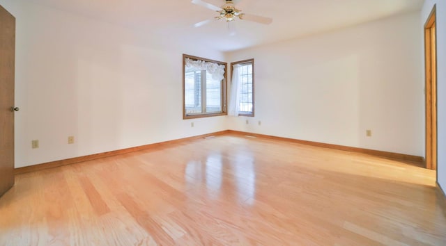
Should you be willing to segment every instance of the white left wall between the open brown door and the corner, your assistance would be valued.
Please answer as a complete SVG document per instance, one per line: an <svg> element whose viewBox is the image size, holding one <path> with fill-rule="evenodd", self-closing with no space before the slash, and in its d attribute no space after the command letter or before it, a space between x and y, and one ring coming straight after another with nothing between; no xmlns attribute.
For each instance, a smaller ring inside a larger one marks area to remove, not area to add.
<svg viewBox="0 0 446 246"><path fill-rule="evenodd" d="M182 54L224 60L220 52L27 1L0 4L17 19L15 167L227 129L226 117L194 128L182 117Z"/></svg>

